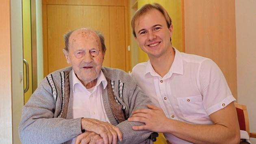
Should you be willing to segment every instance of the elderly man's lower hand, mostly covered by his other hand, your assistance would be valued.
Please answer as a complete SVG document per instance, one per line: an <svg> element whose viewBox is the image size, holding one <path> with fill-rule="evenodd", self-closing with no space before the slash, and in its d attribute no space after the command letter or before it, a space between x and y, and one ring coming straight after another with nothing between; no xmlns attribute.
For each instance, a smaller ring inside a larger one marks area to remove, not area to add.
<svg viewBox="0 0 256 144"><path fill-rule="evenodd" d="M104 141L97 133L85 131L76 137L75 144L104 144Z"/></svg>

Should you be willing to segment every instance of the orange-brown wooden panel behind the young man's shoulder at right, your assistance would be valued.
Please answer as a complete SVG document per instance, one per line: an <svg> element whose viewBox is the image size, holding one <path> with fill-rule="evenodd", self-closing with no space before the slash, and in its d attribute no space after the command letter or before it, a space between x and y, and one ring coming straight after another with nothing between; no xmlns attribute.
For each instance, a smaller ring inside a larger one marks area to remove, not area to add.
<svg viewBox="0 0 256 144"><path fill-rule="evenodd" d="M184 0L185 52L213 59L237 99L234 0Z"/></svg>

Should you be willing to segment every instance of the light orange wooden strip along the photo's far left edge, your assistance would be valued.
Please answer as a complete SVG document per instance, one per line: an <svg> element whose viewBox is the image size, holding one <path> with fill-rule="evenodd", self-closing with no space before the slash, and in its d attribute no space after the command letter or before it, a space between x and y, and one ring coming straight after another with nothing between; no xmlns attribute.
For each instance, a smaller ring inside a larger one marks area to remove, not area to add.
<svg viewBox="0 0 256 144"><path fill-rule="evenodd" d="M12 143L10 1L0 4L0 143Z"/></svg>

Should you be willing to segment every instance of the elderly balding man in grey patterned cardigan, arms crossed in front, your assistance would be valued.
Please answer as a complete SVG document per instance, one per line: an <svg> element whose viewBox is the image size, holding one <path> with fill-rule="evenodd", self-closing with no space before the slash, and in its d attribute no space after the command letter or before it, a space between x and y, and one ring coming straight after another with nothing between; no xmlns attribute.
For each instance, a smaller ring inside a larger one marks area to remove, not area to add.
<svg viewBox="0 0 256 144"><path fill-rule="evenodd" d="M99 32L65 34L64 68L46 76L25 104L19 126L24 144L148 143L152 131L135 131L133 110L150 99L126 72L102 67L106 47Z"/></svg>

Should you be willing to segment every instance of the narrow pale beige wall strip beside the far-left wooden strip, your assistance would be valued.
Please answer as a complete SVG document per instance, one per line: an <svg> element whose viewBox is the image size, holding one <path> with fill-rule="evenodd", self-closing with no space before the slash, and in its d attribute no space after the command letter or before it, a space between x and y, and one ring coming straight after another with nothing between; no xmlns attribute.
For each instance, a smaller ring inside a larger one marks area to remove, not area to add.
<svg viewBox="0 0 256 144"><path fill-rule="evenodd" d="M24 102L22 2L11 0L11 89L12 89L12 139L20 144L18 126Z"/></svg>

